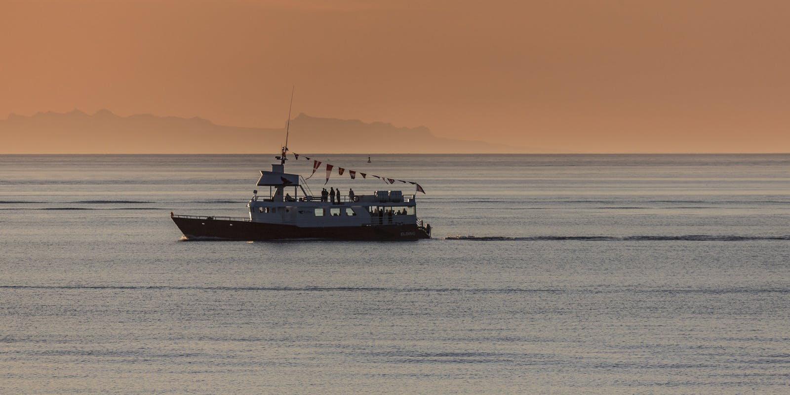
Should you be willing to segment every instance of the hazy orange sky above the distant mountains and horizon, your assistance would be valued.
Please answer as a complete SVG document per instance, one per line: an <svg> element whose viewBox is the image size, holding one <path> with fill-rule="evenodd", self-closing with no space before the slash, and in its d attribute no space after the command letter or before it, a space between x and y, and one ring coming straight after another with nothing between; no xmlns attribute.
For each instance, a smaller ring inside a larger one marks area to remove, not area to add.
<svg viewBox="0 0 790 395"><path fill-rule="evenodd" d="M790 152L787 1L0 0L0 119L294 112L569 152Z"/></svg>

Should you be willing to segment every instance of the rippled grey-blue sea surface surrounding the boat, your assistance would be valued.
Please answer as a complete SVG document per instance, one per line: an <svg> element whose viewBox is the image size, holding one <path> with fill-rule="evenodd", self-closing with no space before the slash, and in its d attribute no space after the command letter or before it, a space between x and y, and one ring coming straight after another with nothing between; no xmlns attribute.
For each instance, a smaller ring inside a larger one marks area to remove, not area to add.
<svg viewBox="0 0 790 395"><path fill-rule="evenodd" d="M790 393L790 155L314 159L434 239L181 239L273 155L0 156L0 393Z"/></svg>

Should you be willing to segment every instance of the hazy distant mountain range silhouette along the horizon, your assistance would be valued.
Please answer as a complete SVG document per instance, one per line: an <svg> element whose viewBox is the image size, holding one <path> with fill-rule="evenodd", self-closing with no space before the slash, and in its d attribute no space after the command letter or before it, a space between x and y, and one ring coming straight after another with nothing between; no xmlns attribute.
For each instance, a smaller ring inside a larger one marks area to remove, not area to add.
<svg viewBox="0 0 790 395"><path fill-rule="evenodd" d="M216 125L201 118L141 114L122 117L100 110L9 115L0 120L0 153L261 153L277 152L284 128ZM289 148L326 153L542 152L483 141L439 138L424 126L315 118L291 121Z"/></svg>

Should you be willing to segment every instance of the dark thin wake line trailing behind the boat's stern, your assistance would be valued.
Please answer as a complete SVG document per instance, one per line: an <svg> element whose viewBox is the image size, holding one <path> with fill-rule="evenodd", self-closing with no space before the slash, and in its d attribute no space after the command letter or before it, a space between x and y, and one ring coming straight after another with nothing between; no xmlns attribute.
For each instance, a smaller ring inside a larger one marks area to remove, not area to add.
<svg viewBox="0 0 790 395"><path fill-rule="evenodd" d="M447 236L445 240L474 241L692 241L692 242L740 242L751 240L790 240L790 235L778 236L739 236L739 235L636 235L636 236Z"/></svg>

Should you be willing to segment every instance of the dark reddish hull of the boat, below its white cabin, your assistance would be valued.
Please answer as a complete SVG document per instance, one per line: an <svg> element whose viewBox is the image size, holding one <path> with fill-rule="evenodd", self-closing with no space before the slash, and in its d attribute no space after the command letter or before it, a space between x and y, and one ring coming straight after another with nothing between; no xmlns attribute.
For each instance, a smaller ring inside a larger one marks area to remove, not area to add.
<svg viewBox="0 0 790 395"><path fill-rule="evenodd" d="M431 235L416 224L379 226L299 228L293 225L263 224L249 220L217 220L213 217L171 216L186 239L265 241L284 239L335 240L416 240Z"/></svg>

